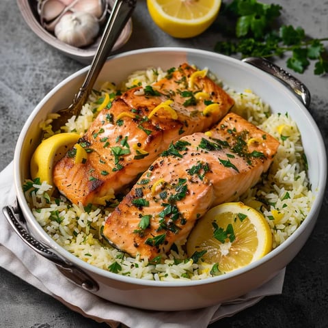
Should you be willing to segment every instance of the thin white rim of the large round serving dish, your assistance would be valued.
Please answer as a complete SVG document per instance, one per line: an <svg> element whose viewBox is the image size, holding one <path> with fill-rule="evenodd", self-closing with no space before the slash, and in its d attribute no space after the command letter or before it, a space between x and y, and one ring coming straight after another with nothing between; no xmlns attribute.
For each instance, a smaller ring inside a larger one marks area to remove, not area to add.
<svg viewBox="0 0 328 328"><path fill-rule="evenodd" d="M53 251L55 251L60 256L64 256L64 258L66 260L69 260L70 262L72 262L72 264L77 265L77 267L79 267L85 271L95 273L96 275L99 275L99 276L102 276L105 278L109 278L109 279L112 279L112 280L115 280L118 282L124 282L124 283L128 283L128 284L138 285L138 286L182 287L183 288L183 287L191 287L191 286L204 285L204 284L213 284L213 283L219 282L221 280L227 280L227 279L236 277L238 275L243 275L243 273L252 271L252 270L256 269L257 267L260 267L265 262L268 262L269 260L278 256L279 253L281 253L282 251L284 251L284 249L288 248L292 243L294 243L295 239L297 239L298 236L300 236L301 234L303 234L305 232L306 228L310 225L310 223L314 219L314 217L318 216L318 213L319 213L320 207L321 207L321 203L323 202L326 180L327 180L327 155L326 155L323 137L318 129L316 122L312 118L312 115L310 115L308 109L305 108L305 106L303 105L303 102L301 102L295 94L293 94L281 82L277 81L277 79L275 79L272 76L269 76L268 73L263 72L262 70L254 67L254 66L251 66L243 61L240 61L238 59L234 59L232 57L228 57L226 55L221 55L218 53L213 53L212 51L191 49L191 48L187 48L187 47L171 47L171 46L169 46L169 47L154 47L154 48L137 49L137 50L133 50L133 51L127 51L124 53L120 53L119 55L113 55L113 56L109 57L108 61L119 59L121 57L131 57L133 55L140 55L140 54L141 55L142 54L155 54L155 53L159 53L159 52L160 53L163 53L163 52L164 53L165 52L172 53L173 52L173 53L186 53L186 54L190 53L193 55L206 55L206 56L210 55L212 57L215 57L219 61L228 61L230 64L241 65L241 66L247 67L247 70L256 72L256 74L260 74L262 77L269 79L269 81L271 83L279 83L279 86L282 87L283 90L288 92L288 96L292 97L292 100L294 102L296 102L296 105L301 108L303 115L305 115L309 124L312 127L312 130L313 130L312 131L313 132L312 139L315 138L317 141L316 148L318 149L318 154L320 155L320 166L321 166L320 168L322 169L320 172L320 176L322 178L318 181L318 187L316 187L316 189L319 192L317 193L317 195L314 199L314 203L310 210L310 214L308 215L308 217L305 217L305 219L301 223L301 226L299 226L299 228L297 228L297 230L295 230L295 232L293 232L293 234L289 238L287 238L286 241L284 241L284 243L282 243L275 249L271 250L269 252L269 254L267 254L260 260L257 260L251 264L248 264L246 267L236 269L230 273L225 273L224 275L218 275L216 277L210 277L210 278L200 279L200 280L156 281L156 280L144 280L144 279L139 279L139 278L135 278L135 277L119 275L119 274L111 273L110 271L105 271L104 269L95 267L92 264L89 264L89 263L77 258L70 252L66 251L66 249L64 249L63 247L58 245L55 241L53 241L53 239L48 234L46 234L46 232L44 232L44 230L38 224L36 219L33 218L33 215L31 214L31 211L29 210L29 207L27 206L27 202L25 200L22 188L20 187L21 186L20 173L19 173L20 172L20 163L18 160L18 159L20 159L20 146L23 145L23 139L25 137L25 134L29 130L29 126L30 126L31 122L33 121L34 116L36 115L36 113L38 113L40 111L40 109L42 109L46 100L51 98L53 96L53 94L55 94L59 89L61 89L61 87L63 87L66 83L68 83L68 81L79 77L81 74L84 74L87 71L87 69L89 68L89 66L86 66L86 67L82 68L81 70L74 72L69 77L66 77L66 79L64 79L63 81L58 83L53 88L53 90L51 90L51 92L46 94L46 96L44 96L44 98L38 103L38 105L35 107L35 109L33 109L31 115L29 115L29 118L25 122L25 125L23 126L23 129L18 137L18 141L16 143L16 148L15 148L15 154L14 154L14 184L16 187L18 203L20 204L20 206L22 206L22 204L25 204L25 207L27 208L27 210L29 210L29 215L31 216L31 217L27 218L28 223L31 224L31 226L33 226L33 228L36 228L38 230L38 232L46 240L46 243L51 247L51 249L53 249Z"/></svg>

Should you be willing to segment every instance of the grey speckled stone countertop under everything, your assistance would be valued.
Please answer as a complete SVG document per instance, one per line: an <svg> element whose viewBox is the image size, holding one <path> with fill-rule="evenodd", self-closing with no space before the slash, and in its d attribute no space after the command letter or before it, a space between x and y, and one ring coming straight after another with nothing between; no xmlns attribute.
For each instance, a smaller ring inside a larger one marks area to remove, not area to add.
<svg viewBox="0 0 328 328"><path fill-rule="evenodd" d="M328 36L327 0L265 2L283 6L284 23L301 26L312 37ZM23 20L16 1L0 1L0 22L0 169L3 169L12 161L16 139L33 107L59 81L83 65L40 40ZM190 40L170 38L154 26L146 10L146 1L140 0L133 14L133 34L120 52L150 46L190 46L211 51L218 39L214 29ZM286 68L284 60L276 63ZM314 76L312 68L295 76L312 94L310 110L327 147L328 77ZM264 298L253 307L210 327L328 327L327 217L326 190L312 235L286 269L282 295ZM1 328L108 327L72 312L2 268L0 280Z"/></svg>

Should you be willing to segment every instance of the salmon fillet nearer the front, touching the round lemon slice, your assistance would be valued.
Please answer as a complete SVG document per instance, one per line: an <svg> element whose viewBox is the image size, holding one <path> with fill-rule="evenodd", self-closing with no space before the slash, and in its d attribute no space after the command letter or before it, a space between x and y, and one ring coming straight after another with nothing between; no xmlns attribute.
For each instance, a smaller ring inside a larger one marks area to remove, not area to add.
<svg viewBox="0 0 328 328"><path fill-rule="evenodd" d="M274 137L229 113L212 130L171 143L107 217L103 235L131 256L166 254L187 240L208 209L256 184L278 146Z"/></svg>

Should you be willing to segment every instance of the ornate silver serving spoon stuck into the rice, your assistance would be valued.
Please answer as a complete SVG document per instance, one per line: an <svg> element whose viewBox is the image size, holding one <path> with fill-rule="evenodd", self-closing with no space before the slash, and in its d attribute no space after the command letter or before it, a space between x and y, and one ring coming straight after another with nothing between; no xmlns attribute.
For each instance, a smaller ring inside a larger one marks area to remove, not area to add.
<svg viewBox="0 0 328 328"><path fill-rule="evenodd" d="M57 114L60 116L53 119L53 122L51 123L54 132L59 131L61 126L64 126L67 120L73 115L78 116L81 112L82 106L87 101L87 97L92 91L92 87L96 82L102 66L104 66L107 60L109 52L113 48L116 40L118 40L118 37L128 22L128 19L131 17L136 2L136 0L115 0L107 25L102 33L98 49L94 55L94 59L92 59L90 69L87 72L87 76L85 77L82 86L79 88L77 94L75 94L72 104L67 108L57 111Z"/></svg>

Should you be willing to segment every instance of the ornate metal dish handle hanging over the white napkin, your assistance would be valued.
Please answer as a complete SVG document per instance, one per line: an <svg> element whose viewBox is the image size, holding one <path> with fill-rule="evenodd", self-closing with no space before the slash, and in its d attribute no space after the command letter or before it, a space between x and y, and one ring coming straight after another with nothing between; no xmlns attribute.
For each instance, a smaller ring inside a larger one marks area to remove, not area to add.
<svg viewBox="0 0 328 328"><path fill-rule="evenodd" d="M71 282L90 292L96 292L99 289L98 284L94 281L94 279L92 279L92 277L90 277L90 275L87 275L87 273L75 267L72 263L53 253L50 247L44 245L44 243L41 243L40 241L37 241L36 238L27 232L22 225L22 223L24 225L26 223L25 217L21 213L18 204L15 206L3 207L3 214L5 215L8 223L10 223L10 226L12 226L16 234L18 234L24 243L44 258L53 262L57 269L59 269L63 275L70 279Z"/></svg>

